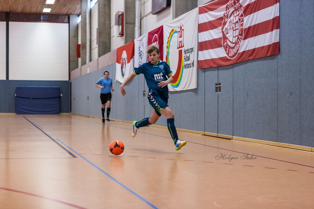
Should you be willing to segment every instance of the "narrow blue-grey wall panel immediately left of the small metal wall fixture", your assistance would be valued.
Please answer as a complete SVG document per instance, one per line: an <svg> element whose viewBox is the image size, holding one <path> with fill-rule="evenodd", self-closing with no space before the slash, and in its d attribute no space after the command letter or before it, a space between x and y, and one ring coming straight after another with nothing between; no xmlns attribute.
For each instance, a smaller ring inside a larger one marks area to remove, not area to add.
<svg viewBox="0 0 314 209"><path fill-rule="evenodd" d="M218 67L205 69L205 132L218 133Z"/></svg>

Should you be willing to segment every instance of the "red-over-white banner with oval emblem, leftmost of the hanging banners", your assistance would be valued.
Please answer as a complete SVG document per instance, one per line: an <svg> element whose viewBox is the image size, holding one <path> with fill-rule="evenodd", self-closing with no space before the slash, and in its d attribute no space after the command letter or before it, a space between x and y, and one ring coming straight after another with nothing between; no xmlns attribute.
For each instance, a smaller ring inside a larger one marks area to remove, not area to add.
<svg viewBox="0 0 314 209"><path fill-rule="evenodd" d="M116 81L123 81L133 71L133 55L134 55L134 40L125 46L117 49L116 59Z"/></svg>

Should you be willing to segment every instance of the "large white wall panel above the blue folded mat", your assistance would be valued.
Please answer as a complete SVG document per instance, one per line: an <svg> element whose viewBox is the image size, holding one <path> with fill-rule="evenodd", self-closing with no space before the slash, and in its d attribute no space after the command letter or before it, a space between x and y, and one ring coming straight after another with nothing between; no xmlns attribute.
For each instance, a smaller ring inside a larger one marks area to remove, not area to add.
<svg viewBox="0 0 314 209"><path fill-rule="evenodd" d="M10 80L68 80L68 24L9 23Z"/></svg>

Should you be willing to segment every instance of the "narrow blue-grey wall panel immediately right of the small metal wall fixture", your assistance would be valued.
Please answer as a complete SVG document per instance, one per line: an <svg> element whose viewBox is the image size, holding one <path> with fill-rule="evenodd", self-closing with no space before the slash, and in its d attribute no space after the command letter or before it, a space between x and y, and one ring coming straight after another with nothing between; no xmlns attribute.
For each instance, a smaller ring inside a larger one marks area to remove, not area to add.
<svg viewBox="0 0 314 209"><path fill-rule="evenodd" d="M233 66L218 67L218 82L221 92L218 93L218 133L233 134Z"/></svg>

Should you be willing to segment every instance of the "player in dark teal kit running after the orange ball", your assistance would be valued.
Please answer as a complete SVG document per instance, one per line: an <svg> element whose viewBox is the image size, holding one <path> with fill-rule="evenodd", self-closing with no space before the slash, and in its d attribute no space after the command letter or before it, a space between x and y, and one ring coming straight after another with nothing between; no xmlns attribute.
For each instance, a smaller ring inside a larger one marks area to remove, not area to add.
<svg viewBox="0 0 314 209"><path fill-rule="evenodd" d="M147 47L149 62L143 63L129 75L121 84L120 90L123 96L126 95L124 86L130 82L135 76L144 74L147 86L149 88L148 101L154 108L154 111L149 118L144 118L140 121L133 121L132 137L136 136L137 130L140 127L154 124L164 115L167 118L167 127L170 132L171 138L175 144L175 149L179 150L187 144L186 141L180 141L176 132L174 124L174 114L168 107L168 84L173 81L169 65L159 60L159 49L154 45ZM168 77L168 78L167 78Z"/></svg>

